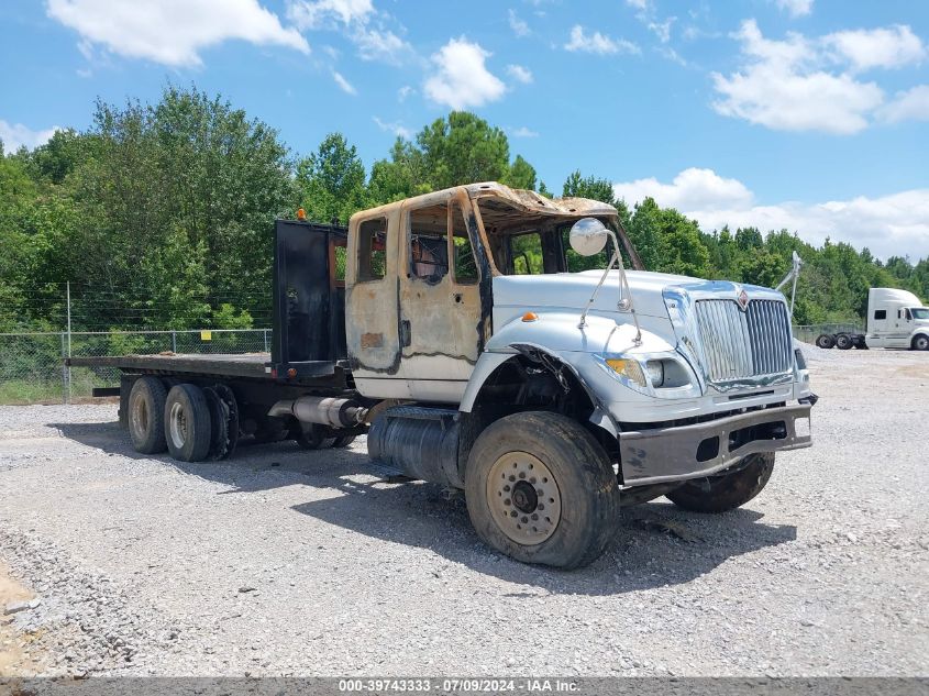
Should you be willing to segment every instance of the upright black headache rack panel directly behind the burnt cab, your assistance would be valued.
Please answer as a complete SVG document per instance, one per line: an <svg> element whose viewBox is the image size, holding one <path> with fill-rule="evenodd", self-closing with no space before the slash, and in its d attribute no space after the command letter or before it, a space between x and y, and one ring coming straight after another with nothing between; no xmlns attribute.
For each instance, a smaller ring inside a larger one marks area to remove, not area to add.
<svg viewBox="0 0 929 696"><path fill-rule="evenodd" d="M272 377L299 380L346 367L345 281L338 278L336 248L345 248L347 228L278 220L274 236Z"/></svg>

